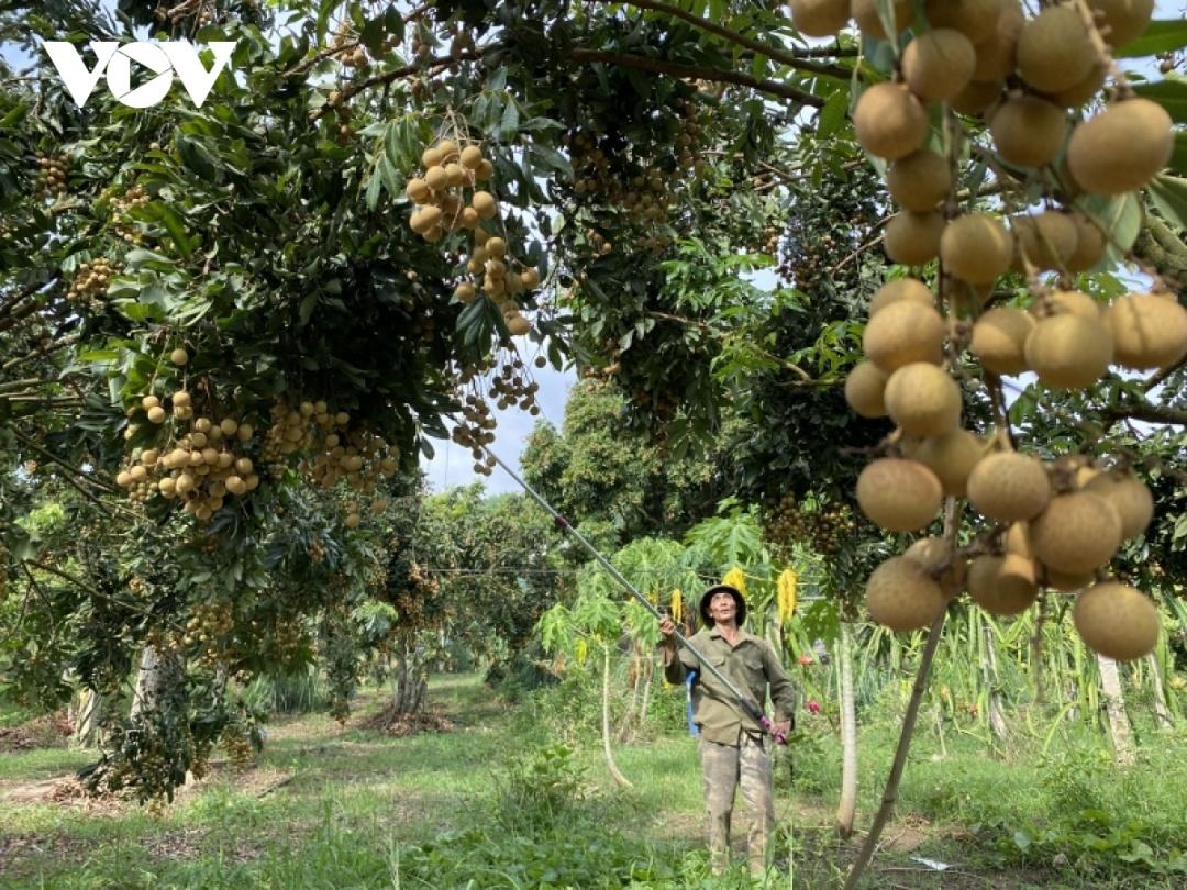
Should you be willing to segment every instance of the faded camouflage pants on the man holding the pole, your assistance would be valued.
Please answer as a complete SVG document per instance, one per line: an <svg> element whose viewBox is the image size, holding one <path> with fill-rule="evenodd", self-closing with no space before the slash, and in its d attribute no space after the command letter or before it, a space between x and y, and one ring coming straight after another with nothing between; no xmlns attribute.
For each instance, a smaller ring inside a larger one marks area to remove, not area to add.
<svg viewBox="0 0 1187 890"><path fill-rule="evenodd" d="M730 816L734 813L734 792L738 786L754 816L747 838L750 869L761 869L766 864L767 841L775 828L775 790L768 744L766 739L755 739L745 733L742 733L737 745L700 739L700 768L709 810L709 853L715 872L729 862Z"/></svg>

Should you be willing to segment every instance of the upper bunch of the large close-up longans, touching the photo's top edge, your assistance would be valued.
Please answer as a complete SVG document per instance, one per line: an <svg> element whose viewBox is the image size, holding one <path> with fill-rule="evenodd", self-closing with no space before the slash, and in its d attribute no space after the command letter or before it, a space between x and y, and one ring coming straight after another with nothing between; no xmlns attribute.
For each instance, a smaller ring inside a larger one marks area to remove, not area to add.
<svg viewBox="0 0 1187 890"><path fill-rule="evenodd" d="M1115 8L1121 5L1091 5L1102 31L1125 39L1145 27L1153 6L1129 4L1123 14ZM884 38L881 19L867 6L853 4L863 33ZM902 6L900 30L912 19L910 4ZM1075 272L1094 265L1104 241L1080 222L1074 231L1061 225L1058 239L1046 231L1023 237L988 215L946 222L937 208L952 187L952 170L925 147L928 104L946 102L960 112L984 113L997 153L1009 165L1037 170L1059 161L1054 173L1068 198L1083 192L1121 195L1147 185L1172 154L1169 115L1156 102L1131 97L1122 84L1102 113L1072 126L1068 108L1097 93L1109 65L1093 27L1073 4L1047 5L1029 20L1016 0L931 0L926 11L932 27L903 50L901 80L870 87L853 112L862 147L891 161L888 185L902 210L887 225L888 256L907 266L938 256L946 272L973 285L992 284L1018 265L1020 252L1023 268L1029 262ZM1023 88L1003 95L1008 77ZM970 103L970 90L984 101ZM1079 237L1088 243L1080 246Z"/></svg>

